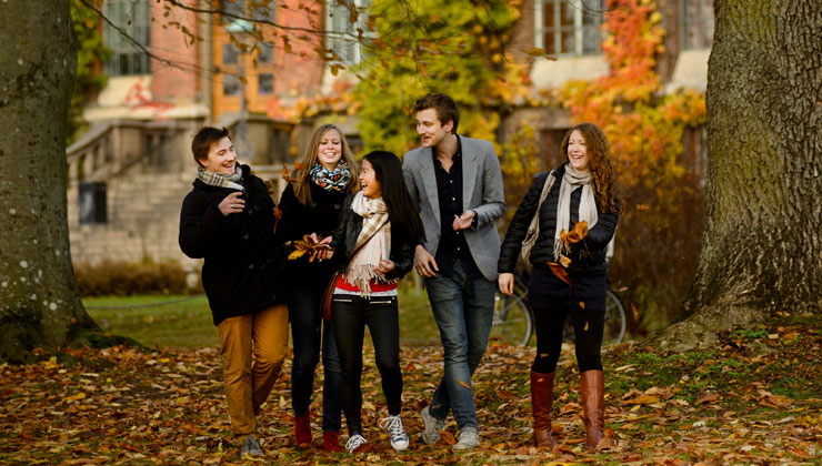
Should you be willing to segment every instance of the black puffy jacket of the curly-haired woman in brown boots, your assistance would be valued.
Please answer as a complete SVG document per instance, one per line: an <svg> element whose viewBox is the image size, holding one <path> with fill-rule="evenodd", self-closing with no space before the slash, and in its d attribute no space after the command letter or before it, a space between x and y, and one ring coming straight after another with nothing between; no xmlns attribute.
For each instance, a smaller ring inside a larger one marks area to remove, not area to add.
<svg viewBox="0 0 822 466"><path fill-rule="evenodd" d="M560 181L564 173L565 165L554 171L557 180L551 186L545 202L542 203L542 209L540 209L540 235L531 249L531 264L555 262L553 259L553 242L557 229L557 203L560 196ZM548 176L549 173L541 173L535 178L520 206L517 207L517 213L511 219L505 240L502 242L500 261L497 267L500 273L512 273L514 271L522 247L522 240L525 239L528 226L537 212L537 204L540 201L540 194ZM580 189L571 193L571 229L577 224L581 195L582 190ZM598 207L597 213L597 224L588 231L588 236L571 246L571 253L569 254L571 264L568 266L570 274L594 275L608 272L605 252L608 243L613 237L613 232L616 229L619 200L616 200L616 209L613 212L603 213Z"/></svg>

